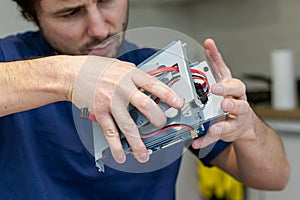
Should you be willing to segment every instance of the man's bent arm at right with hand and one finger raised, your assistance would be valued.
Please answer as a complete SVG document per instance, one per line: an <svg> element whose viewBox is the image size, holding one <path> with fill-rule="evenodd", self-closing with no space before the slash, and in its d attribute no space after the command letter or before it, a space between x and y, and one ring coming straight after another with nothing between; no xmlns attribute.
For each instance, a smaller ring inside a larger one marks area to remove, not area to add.
<svg viewBox="0 0 300 200"><path fill-rule="evenodd" d="M290 166L278 134L251 109L245 85L233 79L213 40L204 47L211 66L221 79L212 92L225 97L221 107L228 112L224 122L212 125L209 133L194 141L200 148L218 139L232 142L211 163L242 181L247 186L283 189L290 175Z"/></svg>

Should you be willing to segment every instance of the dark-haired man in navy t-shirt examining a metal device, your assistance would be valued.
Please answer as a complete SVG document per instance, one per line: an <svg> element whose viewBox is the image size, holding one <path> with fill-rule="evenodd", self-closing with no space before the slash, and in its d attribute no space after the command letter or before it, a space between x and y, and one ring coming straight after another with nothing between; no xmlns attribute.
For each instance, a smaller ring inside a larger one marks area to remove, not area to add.
<svg viewBox="0 0 300 200"><path fill-rule="evenodd" d="M102 126L117 162L124 163L126 159L117 126L136 159L147 162L149 153L127 113L128 103L156 126L165 123L165 116L139 87L177 109L183 104L182 97L133 64L105 58L115 57L121 47L121 40L109 38L126 29L128 1L14 1L40 32L0 41L1 197L174 199L180 159L148 173L132 174L110 168L99 173L73 122L70 102L78 108L88 106ZM212 91L227 97L221 106L229 114L222 128L218 124L212 126L206 139L195 140L192 147L199 149L207 146L207 141L220 139L209 158L203 159L205 164L220 167L250 187L284 188L290 169L280 138L250 108L243 83L231 77L214 42L208 39L204 47L209 61L223 78ZM89 57L94 61L89 62L89 67L99 77L97 87L93 88L99 95L92 102L82 94L89 90L89 84L76 85L87 59L81 55L90 52L96 56ZM37 57L43 58L32 59ZM143 57L129 56L124 60L138 63L136 59L141 61ZM116 94L120 82L126 90Z"/></svg>

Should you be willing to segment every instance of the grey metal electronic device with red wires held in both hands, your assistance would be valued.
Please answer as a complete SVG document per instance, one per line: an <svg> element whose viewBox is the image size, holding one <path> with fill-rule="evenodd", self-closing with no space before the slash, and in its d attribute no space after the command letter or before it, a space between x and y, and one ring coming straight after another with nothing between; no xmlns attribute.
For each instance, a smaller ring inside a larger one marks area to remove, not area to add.
<svg viewBox="0 0 300 200"><path fill-rule="evenodd" d="M184 43L174 41L138 66L185 99L183 108L176 110L145 92L165 112L167 123L163 128L153 126L135 107L129 106L128 110L140 131L141 139L153 153L204 135L211 123L221 120L226 114L220 108L223 97L213 95L210 91L216 81L207 62L202 60L189 63L185 51ZM82 115L93 118L86 109L82 110ZM122 134L120 137L125 152L131 153L126 138ZM108 145L97 122L93 122L93 140L96 165L100 171L104 171L102 153L107 151Z"/></svg>

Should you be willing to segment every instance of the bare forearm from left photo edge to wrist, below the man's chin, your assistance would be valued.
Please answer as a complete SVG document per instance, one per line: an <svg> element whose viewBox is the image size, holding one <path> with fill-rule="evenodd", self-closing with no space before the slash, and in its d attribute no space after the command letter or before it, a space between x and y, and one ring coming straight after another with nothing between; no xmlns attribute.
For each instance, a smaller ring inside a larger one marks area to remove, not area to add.
<svg viewBox="0 0 300 200"><path fill-rule="evenodd" d="M52 56L0 63L0 116L70 100L75 74L68 59Z"/></svg>

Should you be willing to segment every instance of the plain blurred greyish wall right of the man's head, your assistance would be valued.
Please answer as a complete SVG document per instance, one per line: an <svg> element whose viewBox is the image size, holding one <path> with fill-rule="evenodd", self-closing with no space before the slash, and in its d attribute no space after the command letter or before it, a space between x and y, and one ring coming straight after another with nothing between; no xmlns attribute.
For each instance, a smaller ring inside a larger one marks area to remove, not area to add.
<svg viewBox="0 0 300 200"><path fill-rule="evenodd" d="M217 41L235 76L269 76L270 51L295 51L300 77L300 1L199 0L190 6L160 5L131 9L130 27L163 26L182 31L199 42Z"/></svg>

